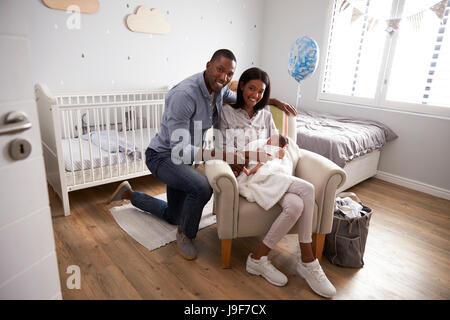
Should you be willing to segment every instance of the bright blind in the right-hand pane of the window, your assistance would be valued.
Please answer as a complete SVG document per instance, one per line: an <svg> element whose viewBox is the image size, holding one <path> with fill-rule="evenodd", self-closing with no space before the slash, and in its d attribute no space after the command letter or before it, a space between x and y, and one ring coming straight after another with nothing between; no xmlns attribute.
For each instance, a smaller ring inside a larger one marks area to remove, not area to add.
<svg viewBox="0 0 450 320"><path fill-rule="evenodd" d="M387 100L450 107L449 3L442 20L427 10L419 25L401 24Z"/></svg>

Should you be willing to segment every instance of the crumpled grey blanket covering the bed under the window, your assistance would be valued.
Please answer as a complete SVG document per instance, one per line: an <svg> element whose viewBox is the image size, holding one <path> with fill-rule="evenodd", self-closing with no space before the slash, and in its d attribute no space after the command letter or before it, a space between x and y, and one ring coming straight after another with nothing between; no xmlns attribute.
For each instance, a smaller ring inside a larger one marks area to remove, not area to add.
<svg viewBox="0 0 450 320"><path fill-rule="evenodd" d="M299 110L297 144L332 160L341 168L352 159L380 149L397 138L381 122Z"/></svg>

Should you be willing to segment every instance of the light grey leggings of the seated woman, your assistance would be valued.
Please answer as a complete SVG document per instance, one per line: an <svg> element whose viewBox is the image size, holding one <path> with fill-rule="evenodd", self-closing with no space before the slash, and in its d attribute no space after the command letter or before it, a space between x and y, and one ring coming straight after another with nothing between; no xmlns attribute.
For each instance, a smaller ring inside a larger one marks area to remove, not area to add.
<svg viewBox="0 0 450 320"><path fill-rule="evenodd" d="M263 243L273 249L298 223L299 243L312 242L312 220L314 214L314 186L300 178L290 185L284 196L278 202L283 208L278 218L273 222Z"/></svg>

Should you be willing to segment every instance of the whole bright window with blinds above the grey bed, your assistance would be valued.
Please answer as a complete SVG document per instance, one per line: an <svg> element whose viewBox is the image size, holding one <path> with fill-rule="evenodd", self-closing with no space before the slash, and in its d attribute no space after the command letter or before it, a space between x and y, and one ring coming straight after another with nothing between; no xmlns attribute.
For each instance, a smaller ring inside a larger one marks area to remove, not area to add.
<svg viewBox="0 0 450 320"><path fill-rule="evenodd" d="M335 0L319 99L450 116L450 0Z"/></svg>

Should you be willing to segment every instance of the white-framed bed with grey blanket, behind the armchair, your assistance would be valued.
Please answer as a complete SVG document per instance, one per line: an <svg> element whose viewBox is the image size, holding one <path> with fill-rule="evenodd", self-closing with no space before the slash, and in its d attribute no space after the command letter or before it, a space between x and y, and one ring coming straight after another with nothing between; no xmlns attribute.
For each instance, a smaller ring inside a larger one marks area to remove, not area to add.
<svg viewBox="0 0 450 320"><path fill-rule="evenodd" d="M297 144L339 165L347 173L346 190L377 173L382 147L398 136L385 124L300 109Z"/></svg>

